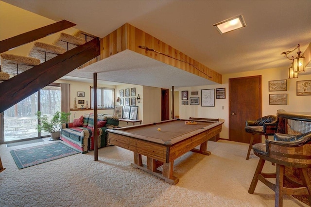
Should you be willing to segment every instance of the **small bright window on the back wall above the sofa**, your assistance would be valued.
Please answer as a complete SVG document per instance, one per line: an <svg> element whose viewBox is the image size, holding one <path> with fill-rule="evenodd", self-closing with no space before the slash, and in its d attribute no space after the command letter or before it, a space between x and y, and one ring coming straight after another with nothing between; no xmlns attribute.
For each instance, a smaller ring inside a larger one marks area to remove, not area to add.
<svg viewBox="0 0 311 207"><path fill-rule="evenodd" d="M113 108L115 103L115 90L113 88L97 88L97 107ZM91 87L91 107L94 108L94 88Z"/></svg>

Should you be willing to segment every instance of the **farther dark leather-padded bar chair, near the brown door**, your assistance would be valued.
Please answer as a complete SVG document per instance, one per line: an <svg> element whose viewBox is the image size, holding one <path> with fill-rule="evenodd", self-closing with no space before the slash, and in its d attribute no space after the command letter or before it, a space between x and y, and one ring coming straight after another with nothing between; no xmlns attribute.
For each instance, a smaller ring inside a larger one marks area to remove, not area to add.
<svg viewBox="0 0 311 207"><path fill-rule="evenodd" d="M251 133L251 140L249 142L248 152L246 156L246 160L249 159L249 155L251 153L252 145L254 142L255 135L264 135L266 140L268 136L273 136L276 133L278 124L278 117L274 115L264 116L254 121L246 121L245 131L247 133Z"/></svg>

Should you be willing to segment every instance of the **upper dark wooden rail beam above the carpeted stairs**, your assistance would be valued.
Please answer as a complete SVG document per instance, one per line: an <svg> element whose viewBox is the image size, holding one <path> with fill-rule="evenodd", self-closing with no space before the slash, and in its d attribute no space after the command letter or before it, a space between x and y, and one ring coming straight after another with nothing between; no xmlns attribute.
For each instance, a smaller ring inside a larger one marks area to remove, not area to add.
<svg viewBox="0 0 311 207"><path fill-rule="evenodd" d="M0 41L0 53L8 51L9 49L16 48L18 46L33 42L56 32L66 30L70 27L74 27L76 24L67 20L62 20L48 26L44 26L30 32L19 34L15 37L11 37Z"/></svg>

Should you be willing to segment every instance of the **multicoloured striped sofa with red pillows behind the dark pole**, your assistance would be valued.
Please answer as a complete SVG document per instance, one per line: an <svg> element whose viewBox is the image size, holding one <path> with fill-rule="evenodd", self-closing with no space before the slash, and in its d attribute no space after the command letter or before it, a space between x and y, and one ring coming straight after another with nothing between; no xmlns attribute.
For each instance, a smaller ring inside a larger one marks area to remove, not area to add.
<svg viewBox="0 0 311 207"><path fill-rule="evenodd" d="M97 115L98 148L111 145L107 139L106 129L116 128L119 125L119 118L115 115ZM72 123L62 124L61 140L82 153L94 150L94 115L84 114Z"/></svg>

